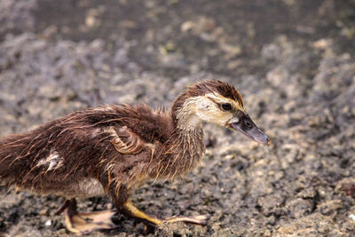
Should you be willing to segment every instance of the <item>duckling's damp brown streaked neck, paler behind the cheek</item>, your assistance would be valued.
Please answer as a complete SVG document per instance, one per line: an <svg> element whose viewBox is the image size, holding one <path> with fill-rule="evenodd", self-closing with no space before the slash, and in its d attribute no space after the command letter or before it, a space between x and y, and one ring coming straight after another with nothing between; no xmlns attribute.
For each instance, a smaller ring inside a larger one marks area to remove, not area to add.
<svg viewBox="0 0 355 237"><path fill-rule="evenodd" d="M172 180L184 176L201 161L205 152L201 119L194 113L194 103L181 99L184 96L171 107L173 130L156 159L158 165L150 173L151 178Z"/></svg>

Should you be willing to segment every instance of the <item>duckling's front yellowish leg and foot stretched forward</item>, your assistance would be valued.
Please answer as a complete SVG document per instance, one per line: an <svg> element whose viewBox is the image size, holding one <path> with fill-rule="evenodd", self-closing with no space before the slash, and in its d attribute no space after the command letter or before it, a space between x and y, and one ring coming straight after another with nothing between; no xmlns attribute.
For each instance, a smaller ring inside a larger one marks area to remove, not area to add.
<svg viewBox="0 0 355 237"><path fill-rule="evenodd" d="M193 224L200 224L200 225L205 225L207 223L207 219L209 218L209 215L201 215L201 216L196 216L196 217L168 217L168 218L156 218L156 217L150 217L146 215L143 211L137 209L133 203L129 200L127 200L121 210L124 214L130 216L130 217L136 217L138 219L141 219L143 221L147 221L151 224L154 225L160 225L163 223L172 223L172 222L189 222Z"/></svg>

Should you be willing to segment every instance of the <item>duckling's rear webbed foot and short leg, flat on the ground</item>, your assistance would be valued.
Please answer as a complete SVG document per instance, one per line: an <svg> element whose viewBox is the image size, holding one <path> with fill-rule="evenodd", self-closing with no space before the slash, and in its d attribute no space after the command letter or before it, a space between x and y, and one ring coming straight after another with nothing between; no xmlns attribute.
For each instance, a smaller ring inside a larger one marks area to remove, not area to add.
<svg viewBox="0 0 355 237"><path fill-rule="evenodd" d="M116 227L111 221L114 211L104 210L79 213L75 199L67 200L56 212L65 211L67 230L73 233L90 233L98 229L113 229Z"/></svg>

